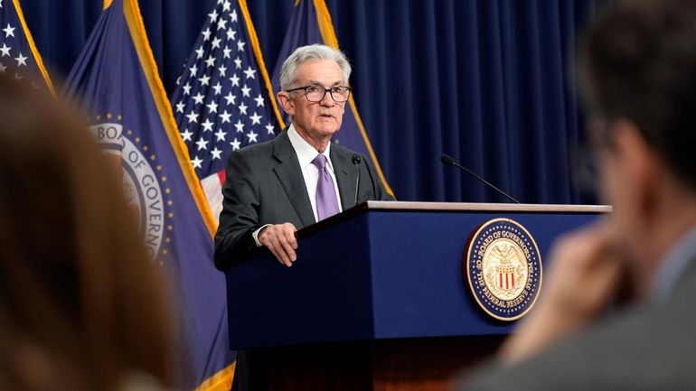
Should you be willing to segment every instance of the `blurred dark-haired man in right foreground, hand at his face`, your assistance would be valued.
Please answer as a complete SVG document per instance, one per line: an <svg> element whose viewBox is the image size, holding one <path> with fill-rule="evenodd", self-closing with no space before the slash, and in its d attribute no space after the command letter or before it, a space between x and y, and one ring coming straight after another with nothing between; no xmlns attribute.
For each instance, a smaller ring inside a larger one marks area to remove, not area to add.
<svg viewBox="0 0 696 391"><path fill-rule="evenodd" d="M461 389L696 389L696 1L618 5L580 59L614 211L560 239L537 307Z"/></svg>

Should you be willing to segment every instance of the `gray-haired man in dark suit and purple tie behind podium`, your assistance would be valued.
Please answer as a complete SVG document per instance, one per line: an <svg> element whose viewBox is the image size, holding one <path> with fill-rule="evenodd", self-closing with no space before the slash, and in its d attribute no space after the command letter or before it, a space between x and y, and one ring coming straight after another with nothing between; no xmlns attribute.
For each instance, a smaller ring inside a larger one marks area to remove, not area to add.
<svg viewBox="0 0 696 391"><path fill-rule="evenodd" d="M291 266L297 229L361 201L391 199L364 156L331 144L350 76L343 52L320 44L297 48L283 63L277 100L292 123L274 140L230 154L215 235L218 268L262 246Z"/></svg>

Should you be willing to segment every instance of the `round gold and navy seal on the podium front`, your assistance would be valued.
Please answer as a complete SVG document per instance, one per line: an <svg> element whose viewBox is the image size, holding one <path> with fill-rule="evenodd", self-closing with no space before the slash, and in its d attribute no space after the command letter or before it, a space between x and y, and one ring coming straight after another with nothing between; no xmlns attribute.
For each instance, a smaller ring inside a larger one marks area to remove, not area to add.
<svg viewBox="0 0 696 391"><path fill-rule="evenodd" d="M539 248L512 219L492 219L478 228L466 248L464 268L476 303L495 319L522 318L539 296Z"/></svg>

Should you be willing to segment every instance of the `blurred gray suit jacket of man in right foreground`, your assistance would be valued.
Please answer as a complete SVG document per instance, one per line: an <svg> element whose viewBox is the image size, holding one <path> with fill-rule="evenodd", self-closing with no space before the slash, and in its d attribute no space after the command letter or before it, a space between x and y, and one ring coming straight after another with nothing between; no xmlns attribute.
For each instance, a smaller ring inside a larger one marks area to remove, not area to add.
<svg viewBox="0 0 696 391"><path fill-rule="evenodd" d="M460 390L696 389L696 260L667 303L610 315L515 368L488 368Z"/></svg>

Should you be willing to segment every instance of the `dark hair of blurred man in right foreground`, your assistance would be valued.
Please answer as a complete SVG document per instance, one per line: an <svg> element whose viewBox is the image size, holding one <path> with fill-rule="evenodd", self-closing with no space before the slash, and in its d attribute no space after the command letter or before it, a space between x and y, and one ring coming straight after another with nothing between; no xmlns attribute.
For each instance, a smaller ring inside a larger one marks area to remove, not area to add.
<svg viewBox="0 0 696 391"><path fill-rule="evenodd" d="M590 111L627 119L696 186L696 0L633 1L599 17L579 51Z"/></svg>

